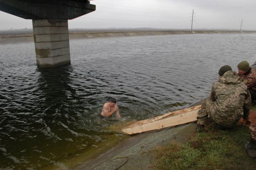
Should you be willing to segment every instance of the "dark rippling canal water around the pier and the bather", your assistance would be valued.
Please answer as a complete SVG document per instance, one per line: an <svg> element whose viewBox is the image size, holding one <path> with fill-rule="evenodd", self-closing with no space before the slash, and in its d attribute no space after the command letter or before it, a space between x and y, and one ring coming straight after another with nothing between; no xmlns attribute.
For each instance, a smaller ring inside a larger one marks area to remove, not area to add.
<svg viewBox="0 0 256 170"><path fill-rule="evenodd" d="M34 42L0 44L0 170L67 170L127 138L127 122L208 96L218 70L252 64L256 34L70 41L71 65L40 69ZM117 99L122 119L101 119Z"/></svg>

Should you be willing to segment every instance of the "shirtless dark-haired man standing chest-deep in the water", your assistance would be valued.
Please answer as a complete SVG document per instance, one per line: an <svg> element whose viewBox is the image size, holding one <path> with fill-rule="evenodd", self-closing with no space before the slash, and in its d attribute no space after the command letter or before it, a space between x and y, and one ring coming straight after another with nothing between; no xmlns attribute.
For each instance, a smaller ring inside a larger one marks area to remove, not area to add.
<svg viewBox="0 0 256 170"><path fill-rule="evenodd" d="M103 109L101 111L102 117L110 117L114 112L116 112L116 116L118 118L121 118L119 114L119 108L116 105L116 100L114 98L111 98L109 102L105 103L103 105Z"/></svg>

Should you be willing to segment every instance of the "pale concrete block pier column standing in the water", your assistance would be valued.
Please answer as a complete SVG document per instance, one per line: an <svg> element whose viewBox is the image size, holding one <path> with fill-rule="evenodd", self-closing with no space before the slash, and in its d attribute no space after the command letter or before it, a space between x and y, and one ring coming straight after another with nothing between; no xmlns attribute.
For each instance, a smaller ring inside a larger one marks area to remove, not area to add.
<svg viewBox="0 0 256 170"><path fill-rule="evenodd" d="M70 64L68 21L33 19L36 63L40 67Z"/></svg>

